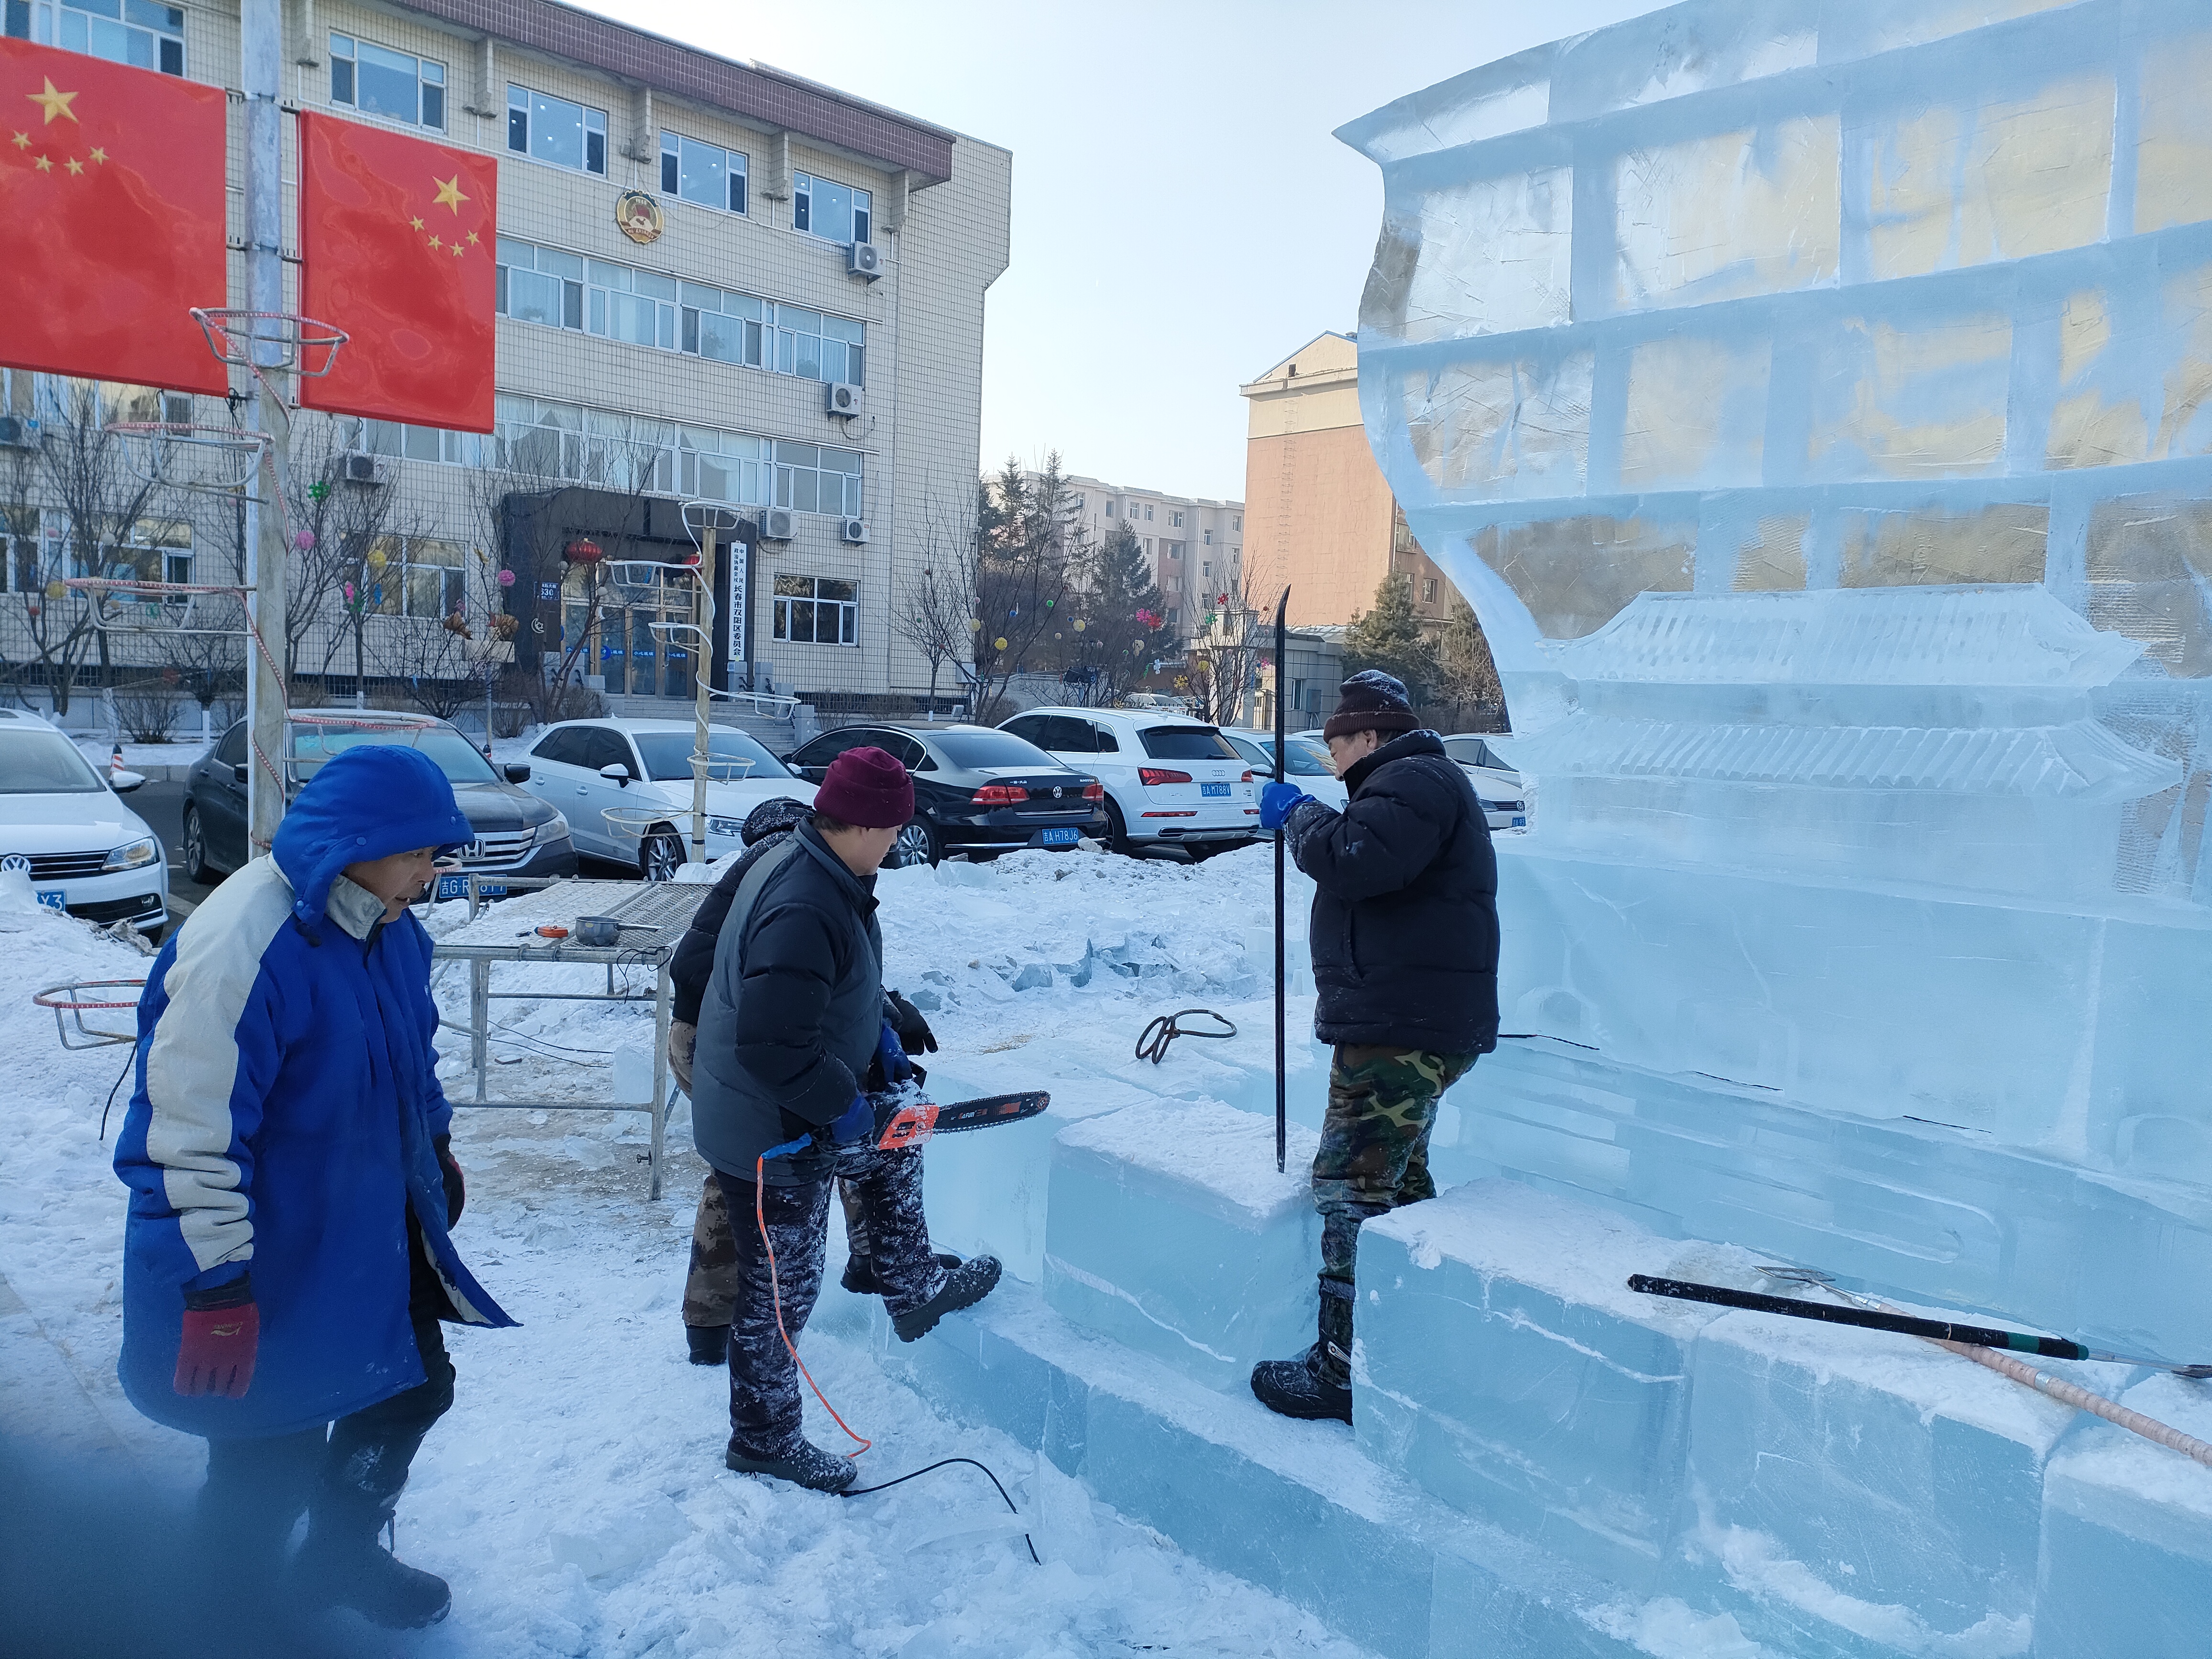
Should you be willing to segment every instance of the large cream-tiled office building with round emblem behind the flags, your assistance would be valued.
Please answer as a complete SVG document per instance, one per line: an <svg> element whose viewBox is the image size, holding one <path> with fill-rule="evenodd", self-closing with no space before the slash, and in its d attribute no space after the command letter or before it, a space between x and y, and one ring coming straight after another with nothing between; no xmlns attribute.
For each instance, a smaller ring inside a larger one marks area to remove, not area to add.
<svg viewBox="0 0 2212 1659"><path fill-rule="evenodd" d="M237 84L234 0L113 11L29 0L7 7L7 27ZM597 615L580 675L613 697L688 697L688 648L655 630L690 617L688 577L615 582L608 566L681 562L681 502L706 498L745 526L710 653L719 681L845 699L929 684L894 606L927 564L927 504L978 473L984 292L1009 248L1004 148L555 0L288 0L285 73L303 111L500 164L495 436L338 420L316 440L325 418L299 418L294 458L307 453L341 504L383 491L385 557L363 584L369 677L451 611L489 622L504 608L522 666L560 661ZM232 115L234 186L237 131ZM290 124L285 153L290 177ZM232 188L234 246L239 212ZM7 376L0 398L35 418L60 396L49 380ZM208 398L159 407L226 418ZM150 529L104 560L230 580L230 502L217 507L148 509ZM66 562L51 511L33 518L0 522L0 584L29 602ZM316 602L332 615L299 641L294 677L349 677L343 599ZM20 630L22 602L9 604L0 615ZM0 644L20 659L20 641Z"/></svg>

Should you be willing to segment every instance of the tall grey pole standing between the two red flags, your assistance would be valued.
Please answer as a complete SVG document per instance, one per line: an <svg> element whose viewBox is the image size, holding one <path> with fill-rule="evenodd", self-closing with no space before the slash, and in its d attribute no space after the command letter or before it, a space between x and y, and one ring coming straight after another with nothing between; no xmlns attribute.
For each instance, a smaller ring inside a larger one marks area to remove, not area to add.
<svg viewBox="0 0 2212 1659"><path fill-rule="evenodd" d="M283 301L283 0L241 0L239 86L246 91L246 307L281 314ZM257 323L254 334L263 330ZM246 774L248 854L265 852L283 823L285 792L285 544L283 484L292 418L276 380L285 347L257 338L246 429L268 434L261 471L246 491L246 584L263 648L246 653L246 719L257 763ZM274 661L270 661L274 657ZM261 757L276 768L270 776Z"/></svg>

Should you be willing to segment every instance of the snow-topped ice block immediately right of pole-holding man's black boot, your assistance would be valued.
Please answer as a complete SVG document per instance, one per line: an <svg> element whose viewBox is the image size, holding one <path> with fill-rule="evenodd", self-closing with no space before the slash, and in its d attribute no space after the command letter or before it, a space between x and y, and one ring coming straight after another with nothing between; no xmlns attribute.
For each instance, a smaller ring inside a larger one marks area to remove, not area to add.
<svg viewBox="0 0 2212 1659"><path fill-rule="evenodd" d="M1659 1584L1719 1310L1628 1274L1752 1285L1741 1250L1661 1239L1520 1181L1360 1228L1354 1422L1385 1469L1604 1573Z"/></svg>

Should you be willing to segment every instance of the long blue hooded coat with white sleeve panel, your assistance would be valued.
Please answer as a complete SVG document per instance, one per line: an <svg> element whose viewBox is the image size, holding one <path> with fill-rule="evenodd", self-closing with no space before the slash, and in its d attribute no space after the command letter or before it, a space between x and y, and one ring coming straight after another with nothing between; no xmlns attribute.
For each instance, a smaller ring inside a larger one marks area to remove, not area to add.
<svg viewBox="0 0 2212 1659"><path fill-rule="evenodd" d="M447 1237L431 942L345 865L469 841L414 748L338 754L254 858L161 947L139 1000L137 1088L115 1141L122 1385L155 1422L290 1433L422 1383L407 1314L414 1214L451 1318L513 1325ZM261 1347L239 1400L173 1389L186 1292L252 1270Z"/></svg>

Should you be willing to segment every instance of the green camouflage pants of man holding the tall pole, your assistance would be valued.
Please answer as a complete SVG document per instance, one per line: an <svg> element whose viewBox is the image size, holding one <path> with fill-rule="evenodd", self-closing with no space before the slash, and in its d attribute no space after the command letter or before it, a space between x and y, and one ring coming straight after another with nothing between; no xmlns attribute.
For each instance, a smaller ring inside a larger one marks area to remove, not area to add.
<svg viewBox="0 0 2212 1659"><path fill-rule="evenodd" d="M1429 1130L1436 1106L1475 1055L1425 1048L1336 1051L1329 1110L1314 1155L1314 1208L1321 1210L1321 1287L1352 1296L1360 1223L1436 1197Z"/></svg>

